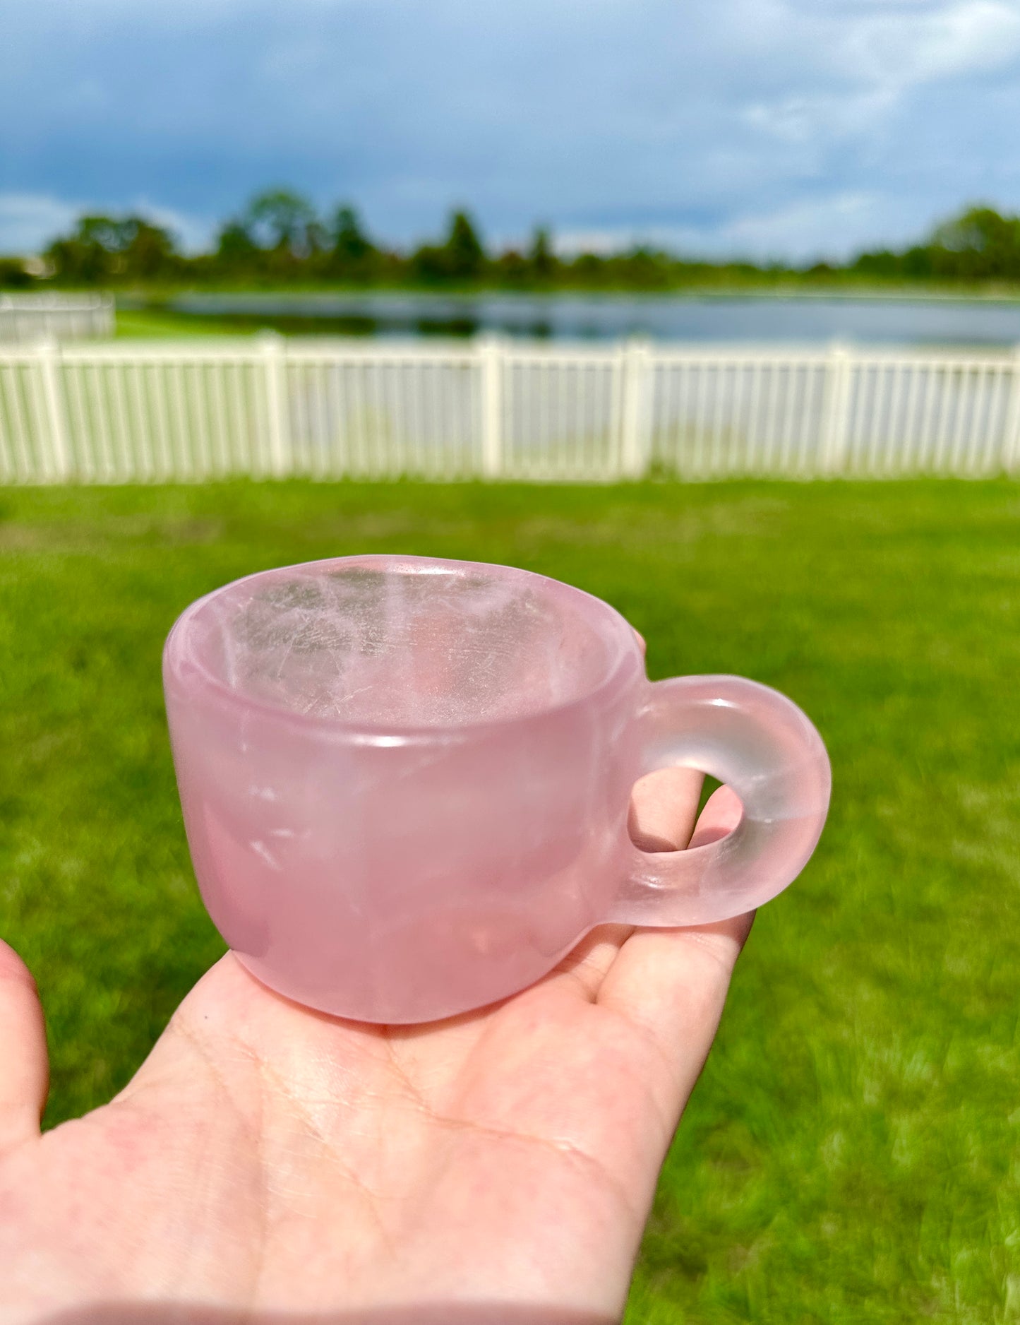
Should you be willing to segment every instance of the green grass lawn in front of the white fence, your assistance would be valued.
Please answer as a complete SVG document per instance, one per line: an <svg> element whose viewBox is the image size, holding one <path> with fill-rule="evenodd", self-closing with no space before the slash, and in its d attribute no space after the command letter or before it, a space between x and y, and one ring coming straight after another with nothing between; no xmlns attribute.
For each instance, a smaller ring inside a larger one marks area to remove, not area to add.
<svg viewBox="0 0 1020 1325"><path fill-rule="evenodd" d="M1008 484L0 493L0 933L46 1003L49 1122L121 1086L221 951L167 747L167 629L233 576L384 550L580 584L644 632L652 676L767 681L829 746L829 825L758 918L629 1318L1020 1320Z"/></svg>

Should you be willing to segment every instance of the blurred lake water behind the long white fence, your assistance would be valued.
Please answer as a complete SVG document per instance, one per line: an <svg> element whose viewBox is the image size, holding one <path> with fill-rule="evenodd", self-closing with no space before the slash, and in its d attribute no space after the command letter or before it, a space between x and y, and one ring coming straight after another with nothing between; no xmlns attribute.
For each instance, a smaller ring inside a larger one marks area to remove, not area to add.
<svg viewBox="0 0 1020 1325"><path fill-rule="evenodd" d="M853 295L187 294L168 305L240 329L290 334L499 333L554 341L852 341L915 346L1020 343L1020 301Z"/></svg>

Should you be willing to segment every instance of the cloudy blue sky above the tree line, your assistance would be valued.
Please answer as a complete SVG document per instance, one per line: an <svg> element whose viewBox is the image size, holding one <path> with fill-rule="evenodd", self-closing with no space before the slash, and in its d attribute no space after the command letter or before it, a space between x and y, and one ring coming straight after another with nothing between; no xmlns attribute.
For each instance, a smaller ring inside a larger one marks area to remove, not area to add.
<svg viewBox="0 0 1020 1325"><path fill-rule="evenodd" d="M1020 211L1020 0L4 0L0 252L268 184L407 244L842 256Z"/></svg>

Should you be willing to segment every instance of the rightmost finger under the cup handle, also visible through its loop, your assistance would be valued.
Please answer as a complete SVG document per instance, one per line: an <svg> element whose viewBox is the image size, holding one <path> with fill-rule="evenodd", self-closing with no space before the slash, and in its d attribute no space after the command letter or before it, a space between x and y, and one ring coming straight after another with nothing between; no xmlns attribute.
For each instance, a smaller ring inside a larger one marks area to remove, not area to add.
<svg viewBox="0 0 1020 1325"><path fill-rule="evenodd" d="M726 836L739 819L740 802L729 787L719 787L690 845ZM636 930L601 983L599 1004L635 1023L657 1049L654 1084L668 1116L680 1116L705 1065L752 921L751 913L686 929Z"/></svg>

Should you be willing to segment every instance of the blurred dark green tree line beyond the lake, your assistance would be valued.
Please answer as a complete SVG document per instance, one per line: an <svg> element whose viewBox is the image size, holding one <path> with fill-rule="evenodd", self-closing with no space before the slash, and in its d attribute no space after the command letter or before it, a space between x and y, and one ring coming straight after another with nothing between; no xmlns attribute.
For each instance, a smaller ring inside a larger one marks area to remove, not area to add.
<svg viewBox="0 0 1020 1325"><path fill-rule="evenodd" d="M968 207L902 250L877 249L845 264L710 262L636 245L619 253L556 252L536 227L521 248L486 248L466 211L454 211L437 242L400 250L378 241L350 204L321 216L290 189L256 195L217 231L205 253L181 252L166 227L138 216L82 216L54 238L41 264L0 260L0 285L278 285L338 282L507 288L674 289L776 282L1020 282L1020 216Z"/></svg>

